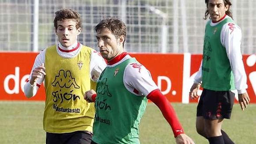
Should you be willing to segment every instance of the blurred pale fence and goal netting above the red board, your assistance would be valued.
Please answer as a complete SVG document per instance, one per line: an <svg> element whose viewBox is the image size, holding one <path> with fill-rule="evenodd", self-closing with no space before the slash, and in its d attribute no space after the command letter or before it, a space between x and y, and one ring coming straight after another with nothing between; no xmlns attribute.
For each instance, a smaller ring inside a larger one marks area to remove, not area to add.
<svg viewBox="0 0 256 144"><path fill-rule="evenodd" d="M0 51L40 51L54 45L54 12L73 8L81 14L78 41L97 50L95 25L104 17L127 24L128 52L201 54L207 20L204 0L0 0ZM242 54L255 53L256 2L232 0L241 27Z"/></svg>

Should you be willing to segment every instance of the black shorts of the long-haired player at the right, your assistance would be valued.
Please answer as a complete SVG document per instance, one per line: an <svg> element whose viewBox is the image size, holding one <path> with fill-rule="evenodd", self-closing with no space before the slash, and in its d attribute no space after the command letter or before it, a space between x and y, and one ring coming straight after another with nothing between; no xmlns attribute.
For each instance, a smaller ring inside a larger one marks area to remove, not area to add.
<svg viewBox="0 0 256 144"><path fill-rule="evenodd" d="M208 120L230 119L235 94L231 91L203 89L198 102L196 116Z"/></svg>

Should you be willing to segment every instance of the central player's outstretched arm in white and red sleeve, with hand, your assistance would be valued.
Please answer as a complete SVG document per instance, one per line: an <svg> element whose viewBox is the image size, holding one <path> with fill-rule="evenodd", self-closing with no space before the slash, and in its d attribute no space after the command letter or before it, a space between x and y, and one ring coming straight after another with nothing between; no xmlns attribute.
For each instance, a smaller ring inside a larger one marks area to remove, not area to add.
<svg viewBox="0 0 256 144"><path fill-rule="evenodd" d="M124 73L124 84L131 93L138 96L147 96L147 99L150 99L157 105L171 126L177 143L193 143L193 140L184 134L183 128L170 102L161 93L152 80L150 72L143 65L138 63L128 65Z"/></svg>

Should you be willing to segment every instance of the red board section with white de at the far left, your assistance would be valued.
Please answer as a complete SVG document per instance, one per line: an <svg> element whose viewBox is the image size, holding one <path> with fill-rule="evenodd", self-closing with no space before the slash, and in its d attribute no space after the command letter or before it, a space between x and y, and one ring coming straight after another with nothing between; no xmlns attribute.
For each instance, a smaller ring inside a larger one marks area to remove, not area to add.
<svg viewBox="0 0 256 144"><path fill-rule="evenodd" d="M37 53L0 53L0 100L45 100L44 88L30 99L23 93Z"/></svg>

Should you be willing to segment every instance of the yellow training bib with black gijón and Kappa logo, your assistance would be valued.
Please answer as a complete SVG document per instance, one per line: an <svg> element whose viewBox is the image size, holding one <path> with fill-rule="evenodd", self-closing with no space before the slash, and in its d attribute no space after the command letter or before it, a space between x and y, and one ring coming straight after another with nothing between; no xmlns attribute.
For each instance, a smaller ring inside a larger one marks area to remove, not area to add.
<svg viewBox="0 0 256 144"><path fill-rule="evenodd" d="M95 89L90 79L91 48L81 45L74 58L63 58L56 45L45 53L45 112L44 130L50 133L92 131L94 103L87 103L83 95Z"/></svg>

